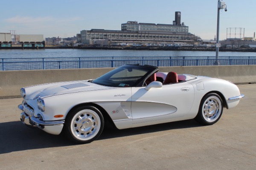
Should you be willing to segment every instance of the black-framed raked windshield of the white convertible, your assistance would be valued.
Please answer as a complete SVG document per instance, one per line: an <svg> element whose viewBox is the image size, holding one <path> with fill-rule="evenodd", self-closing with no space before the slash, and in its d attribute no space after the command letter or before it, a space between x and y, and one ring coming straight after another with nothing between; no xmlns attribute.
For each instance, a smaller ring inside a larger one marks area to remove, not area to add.
<svg viewBox="0 0 256 170"><path fill-rule="evenodd" d="M124 65L100 76L92 83L112 87L132 87L142 82L157 67Z"/></svg>

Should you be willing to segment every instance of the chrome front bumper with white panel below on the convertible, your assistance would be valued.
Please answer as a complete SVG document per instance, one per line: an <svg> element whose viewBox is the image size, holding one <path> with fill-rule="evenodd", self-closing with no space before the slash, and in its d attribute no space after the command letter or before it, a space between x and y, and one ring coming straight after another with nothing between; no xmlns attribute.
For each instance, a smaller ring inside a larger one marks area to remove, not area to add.
<svg viewBox="0 0 256 170"><path fill-rule="evenodd" d="M20 110L23 110L22 105L18 106ZM44 130L47 133L53 135L59 135L63 128L65 120L61 121L42 121L40 118L36 118L35 116L29 117L25 112L20 113L20 121L23 122L26 126L29 127L38 127Z"/></svg>

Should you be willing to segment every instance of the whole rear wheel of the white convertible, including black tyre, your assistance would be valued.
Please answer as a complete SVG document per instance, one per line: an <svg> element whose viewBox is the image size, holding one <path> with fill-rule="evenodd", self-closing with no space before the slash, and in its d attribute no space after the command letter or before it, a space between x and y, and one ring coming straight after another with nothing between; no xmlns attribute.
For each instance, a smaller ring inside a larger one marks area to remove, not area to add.
<svg viewBox="0 0 256 170"><path fill-rule="evenodd" d="M202 99L195 120L205 125L215 124L221 118L222 111L221 97L216 93L210 93Z"/></svg>

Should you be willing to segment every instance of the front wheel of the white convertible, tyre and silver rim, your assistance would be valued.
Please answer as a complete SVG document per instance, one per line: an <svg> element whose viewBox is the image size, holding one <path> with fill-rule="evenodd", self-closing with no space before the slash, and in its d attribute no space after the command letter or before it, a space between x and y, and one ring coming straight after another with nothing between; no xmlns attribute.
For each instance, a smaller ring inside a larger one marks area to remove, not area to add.
<svg viewBox="0 0 256 170"><path fill-rule="evenodd" d="M65 134L72 141L86 144L94 141L102 133L104 118L93 106L83 106L71 112L64 124Z"/></svg>

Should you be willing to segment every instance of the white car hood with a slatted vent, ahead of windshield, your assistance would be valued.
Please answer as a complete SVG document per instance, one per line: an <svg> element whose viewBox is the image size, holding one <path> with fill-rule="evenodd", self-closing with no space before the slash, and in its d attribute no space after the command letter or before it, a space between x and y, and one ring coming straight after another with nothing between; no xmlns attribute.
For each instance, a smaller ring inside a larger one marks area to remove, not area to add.
<svg viewBox="0 0 256 170"><path fill-rule="evenodd" d="M72 81L62 83L52 83L50 86L39 90L44 96L61 95L75 92L85 92L93 90L113 89L115 87L101 86L88 81Z"/></svg>

